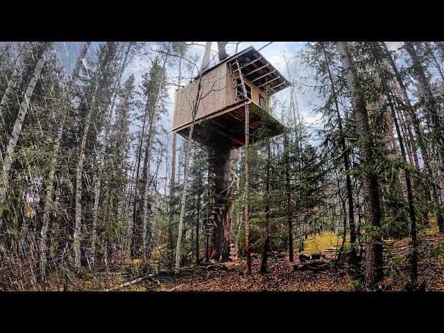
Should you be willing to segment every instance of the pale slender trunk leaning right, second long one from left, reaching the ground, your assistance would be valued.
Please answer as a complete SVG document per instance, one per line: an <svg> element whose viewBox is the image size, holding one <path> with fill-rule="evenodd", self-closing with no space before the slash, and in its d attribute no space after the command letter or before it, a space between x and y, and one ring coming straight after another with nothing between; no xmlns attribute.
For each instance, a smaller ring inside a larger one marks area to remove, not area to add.
<svg viewBox="0 0 444 333"><path fill-rule="evenodd" d="M63 110L60 114L61 117L63 117L60 121L60 125L57 129L56 138L54 139L54 147L53 147L53 153L51 155L51 169L49 170L48 178L46 179L46 194L44 198L44 207L43 207L43 216L42 216L42 229L40 230L40 274L42 275L42 279L45 279L45 268L46 268L46 235L48 233L48 226L49 226L49 214L51 210L51 205L53 203L53 188L54 188L54 178L56 176L56 164L57 164L57 158L58 158L58 151L60 149L60 142L62 141L62 133L63 128L65 127L65 121L67 118L65 118L66 109L68 108L67 103L69 103L69 90L71 89L72 83L76 80L78 77L78 74L80 73L80 68L82 64L83 58L85 58L86 53L88 51L88 46L91 44L91 42L85 42L83 45L83 48L80 50L80 53L77 58L76 66L74 66L74 69L71 73L71 77L68 80L67 83L67 92L65 94L65 105L66 108Z"/></svg>

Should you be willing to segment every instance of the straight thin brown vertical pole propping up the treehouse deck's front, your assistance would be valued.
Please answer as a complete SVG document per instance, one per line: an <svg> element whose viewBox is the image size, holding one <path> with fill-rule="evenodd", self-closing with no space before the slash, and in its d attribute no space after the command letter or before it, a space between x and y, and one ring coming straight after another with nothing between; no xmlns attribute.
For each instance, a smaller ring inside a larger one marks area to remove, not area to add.
<svg viewBox="0 0 444 333"><path fill-rule="evenodd" d="M250 248L250 109L245 105L245 237L247 252L247 274L251 275L251 248Z"/></svg>

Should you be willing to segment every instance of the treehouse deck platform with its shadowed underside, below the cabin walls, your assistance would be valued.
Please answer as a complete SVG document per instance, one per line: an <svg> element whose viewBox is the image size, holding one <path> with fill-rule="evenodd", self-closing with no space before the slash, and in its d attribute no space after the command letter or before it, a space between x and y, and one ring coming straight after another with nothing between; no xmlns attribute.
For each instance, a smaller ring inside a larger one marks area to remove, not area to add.
<svg viewBox="0 0 444 333"><path fill-rule="evenodd" d="M272 114L259 108L252 101L241 101L225 110L214 112L196 121L193 130L193 141L202 146L209 142L230 142L235 149L245 145L245 107L250 109L250 143L264 137L275 137L284 133L284 125ZM182 126L176 133L185 139L189 136L189 126Z"/></svg>

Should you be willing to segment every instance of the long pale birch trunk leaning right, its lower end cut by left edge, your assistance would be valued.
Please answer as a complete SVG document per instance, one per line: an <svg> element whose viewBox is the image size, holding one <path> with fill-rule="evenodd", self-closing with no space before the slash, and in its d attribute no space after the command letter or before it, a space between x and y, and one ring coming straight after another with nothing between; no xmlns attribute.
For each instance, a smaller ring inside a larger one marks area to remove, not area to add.
<svg viewBox="0 0 444 333"><path fill-rule="evenodd" d="M22 103L20 104L19 113L17 114L17 119L15 119L14 127L12 128L12 133L6 147L6 152L4 153L3 165L1 169L1 180L0 180L0 204L6 199L6 193L9 187L9 171L12 167L12 162L15 159L15 146L17 146L17 141L19 140L19 135L22 133L22 126L28 112L28 106L34 94L35 85L42 72L44 64L46 62L46 57L53 46L53 42L48 42L44 46L44 51L40 59L35 65L33 75L31 80L29 80L28 87L24 94Z"/></svg>

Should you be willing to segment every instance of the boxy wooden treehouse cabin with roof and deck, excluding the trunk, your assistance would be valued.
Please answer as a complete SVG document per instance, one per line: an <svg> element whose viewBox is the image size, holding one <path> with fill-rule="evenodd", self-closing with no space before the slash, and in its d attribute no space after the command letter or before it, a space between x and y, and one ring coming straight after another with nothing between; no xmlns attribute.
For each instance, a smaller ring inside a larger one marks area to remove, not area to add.
<svg viewBox="0 0 444 333"><path fill-rule="evenodd" d="M289 81L250 46L206 69L176 92L172 130L188 139L195 114L195 142L205 147L239 148L246 140L248 108L250 142L259 138L259 129L266 137L280 135L284 126L266 111L266 96L289 86Z"/></svg>

